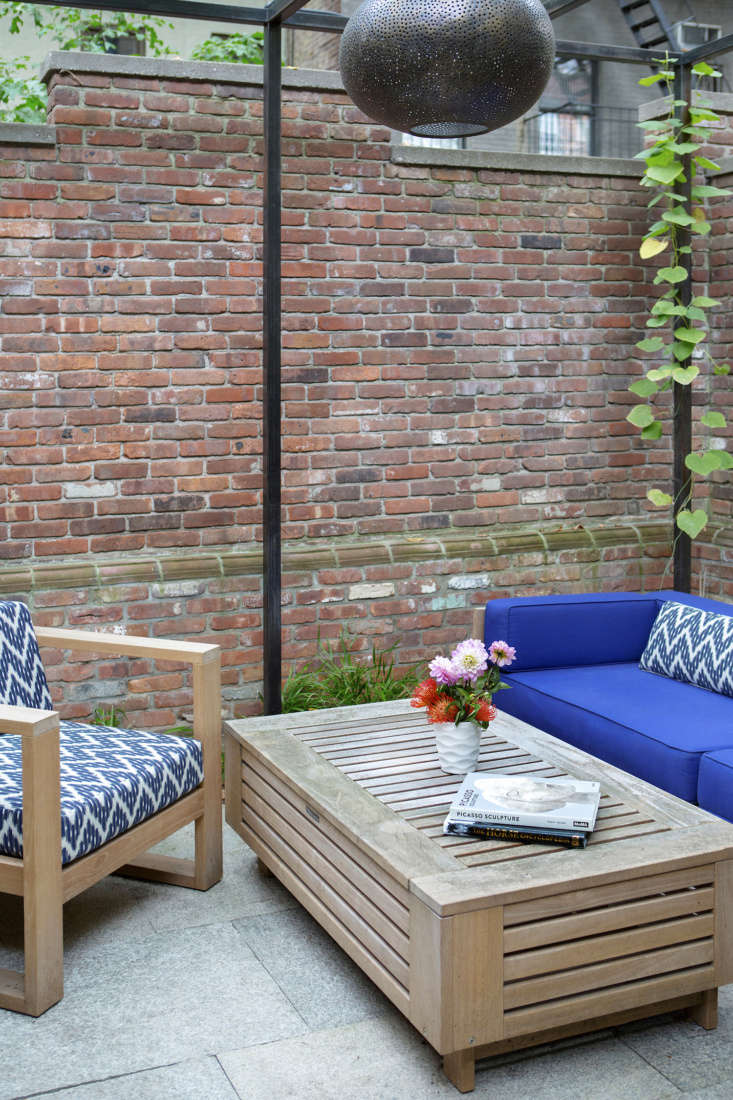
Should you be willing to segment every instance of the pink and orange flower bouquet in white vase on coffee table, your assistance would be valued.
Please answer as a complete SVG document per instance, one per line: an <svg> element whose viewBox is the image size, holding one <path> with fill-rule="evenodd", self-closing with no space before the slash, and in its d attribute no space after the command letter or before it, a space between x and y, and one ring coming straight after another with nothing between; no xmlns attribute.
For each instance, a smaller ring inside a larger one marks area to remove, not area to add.
<svg viewBox="0 0 733 1100"><path fill-rule="evenodd" d="M471 771L479 756L481 733L496 717L494 692L508 688L500 669L516 657L505 641L489 649L478 638L467 638L450 657L435 657L430 675L413 692L411 706L427 707L427 719L436 725L436 743L444 771ZM462 728L461 728L462 727Z"/></svg>

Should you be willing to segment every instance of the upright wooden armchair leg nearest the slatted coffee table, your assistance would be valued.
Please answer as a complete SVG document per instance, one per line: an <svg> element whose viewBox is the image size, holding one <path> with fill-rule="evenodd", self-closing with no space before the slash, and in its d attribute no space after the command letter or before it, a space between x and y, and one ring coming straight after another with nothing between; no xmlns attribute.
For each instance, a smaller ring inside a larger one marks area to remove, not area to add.
<svg viewBox="0 0 733 1100"><path fill-rule="evenodd" d="M194 886L221 878L221 660L194 667L194 737L204 746L204 814L196 822Z"/></svg>

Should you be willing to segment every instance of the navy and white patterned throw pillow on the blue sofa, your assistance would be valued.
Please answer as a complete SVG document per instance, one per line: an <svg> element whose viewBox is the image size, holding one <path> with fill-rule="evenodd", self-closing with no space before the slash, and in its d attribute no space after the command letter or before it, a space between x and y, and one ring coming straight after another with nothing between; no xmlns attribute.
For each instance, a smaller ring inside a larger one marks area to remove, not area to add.
<svg viewBox="0 0 733 1100"><path fill-rule="evenodd" d="M733 695L733 615L667 601L654 620L639 668Z"/></svg>

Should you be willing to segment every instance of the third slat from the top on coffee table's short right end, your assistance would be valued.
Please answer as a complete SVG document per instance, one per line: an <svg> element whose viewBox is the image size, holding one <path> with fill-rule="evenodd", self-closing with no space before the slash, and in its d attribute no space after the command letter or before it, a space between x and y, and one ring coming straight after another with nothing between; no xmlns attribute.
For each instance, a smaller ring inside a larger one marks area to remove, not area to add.
<svg viewBox="0 0 733 1100"><path fill-rule="evenodd" d="M569 944L518 952L504 959L504 978L518 981L554 970L588 966L602 959L620 958L638 952L655 950L670 944L681 944L691 939L712 936L715 923L712 913L688 916L681 920L660 921L626 932L573 939Z"/></svg>

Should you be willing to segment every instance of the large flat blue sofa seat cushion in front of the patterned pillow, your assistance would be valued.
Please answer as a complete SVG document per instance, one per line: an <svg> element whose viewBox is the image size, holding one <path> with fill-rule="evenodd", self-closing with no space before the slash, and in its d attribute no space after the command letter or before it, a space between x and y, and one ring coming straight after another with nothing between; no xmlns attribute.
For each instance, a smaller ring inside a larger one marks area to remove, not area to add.
<svg viewBox="0 0 733 1100"><path fill-rule="evenodd" d="M703 752L733 746L733 700L635 662L505 676L501 710L688 802ZM704 717L702 706L704 705Z"/></svg>

